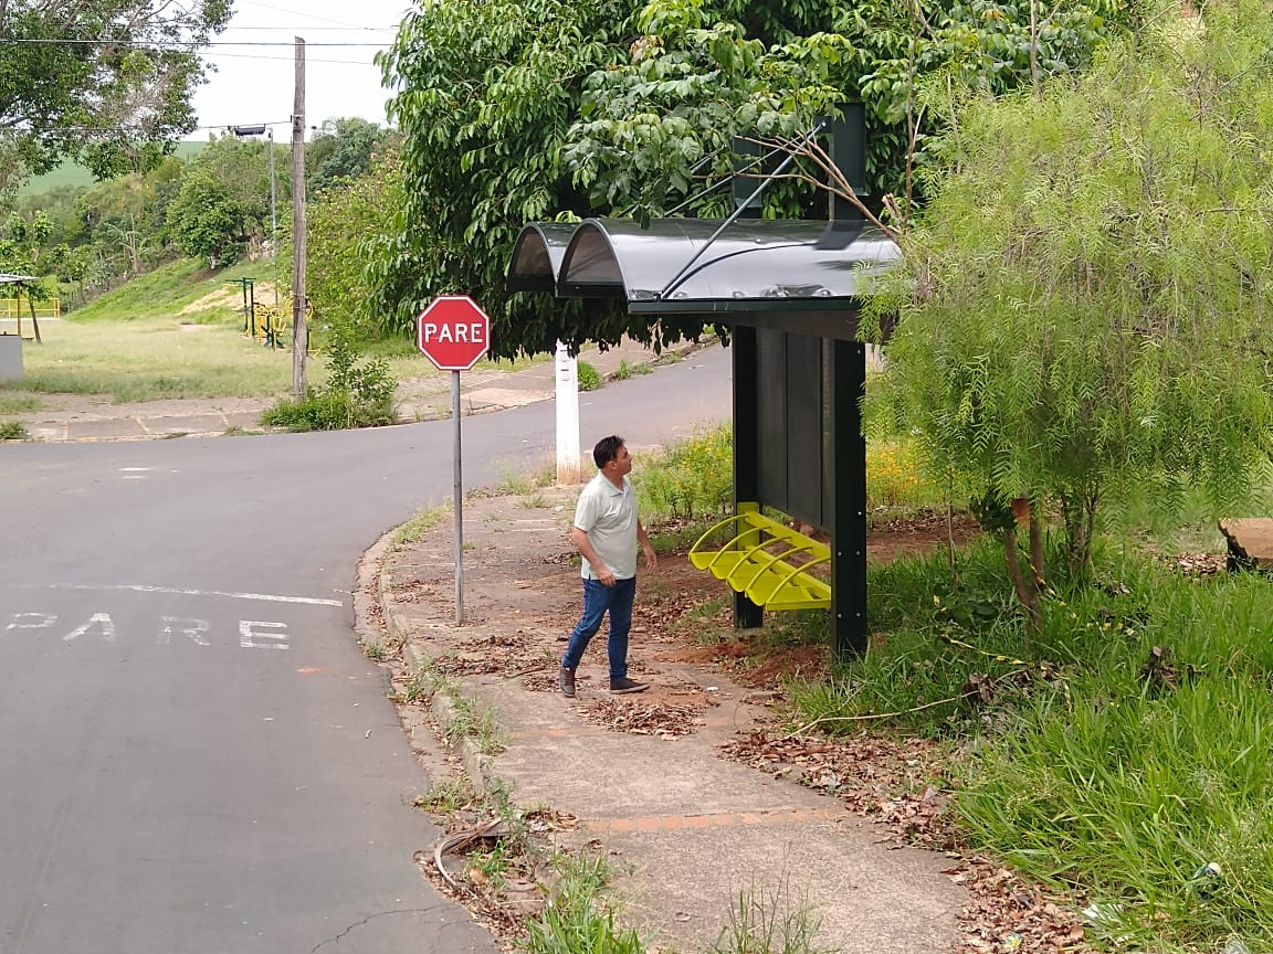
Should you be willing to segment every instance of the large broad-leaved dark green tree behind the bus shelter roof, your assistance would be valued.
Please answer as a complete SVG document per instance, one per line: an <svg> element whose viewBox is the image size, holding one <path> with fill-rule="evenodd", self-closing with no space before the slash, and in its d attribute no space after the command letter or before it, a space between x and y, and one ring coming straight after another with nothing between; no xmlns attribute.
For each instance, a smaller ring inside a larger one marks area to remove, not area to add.
<svg viewBox="0 0 1273 954"><path fill-rule="evenodd" d="M732 136L803 131L854 98L869 106L872 186L904 188L951 102L1081 66L1127 18L1115 0L1046 14L1036 0L424 0L382 59L406 136L407 204L373 263L378 308L405 331L432 296L474 294L493 313L500 355L556 338L694 336L698 319L651 327L612 308L507 295L521 226L657 214L732 168ZM924 107L938 85L947 106ZM727 202L717 192L690 212ZM766 202L770 215L801 215L812 195L784 182Z"/></svg>

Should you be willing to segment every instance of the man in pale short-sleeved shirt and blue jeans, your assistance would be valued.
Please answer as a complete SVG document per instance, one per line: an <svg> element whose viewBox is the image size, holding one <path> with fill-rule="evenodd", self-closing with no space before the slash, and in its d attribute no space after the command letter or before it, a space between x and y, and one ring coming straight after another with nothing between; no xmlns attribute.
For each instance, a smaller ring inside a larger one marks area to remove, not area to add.
<svg viewBox="0 0 1273 954"><path fill-rule="evenodd" d="M583 614L568 637L558 686L574 697L574 670L583 651L601 628L601 617L610 613L610 691L640 692L649 688L628 678L628 631L633 622L633 597L636 595L636 544L645 551L645 566L654 570L658 557L636 514L636 494L628 474L631 454L619 436L602 438L592 449L597 476L592 478L574 510L570 541L583 557Z"/></svg>

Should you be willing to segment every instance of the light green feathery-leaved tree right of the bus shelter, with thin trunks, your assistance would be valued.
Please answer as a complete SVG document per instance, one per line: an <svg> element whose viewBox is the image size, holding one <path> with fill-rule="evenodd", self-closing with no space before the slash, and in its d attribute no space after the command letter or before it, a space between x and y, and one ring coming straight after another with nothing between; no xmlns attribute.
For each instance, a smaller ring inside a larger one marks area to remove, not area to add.
<svg viewBox="0 0 1273 954"><path fill-rule="evenodd" d="M1083 579L1104 506L1218 509L1267 473L1273 22L1260 0L1164 9L1082 79L975 103L950 134L908 270L886 406L1011 553L1011 499ZM989 491L987 494L987 490ZM1043 547L1013 574L1037 613Z"/></svg>

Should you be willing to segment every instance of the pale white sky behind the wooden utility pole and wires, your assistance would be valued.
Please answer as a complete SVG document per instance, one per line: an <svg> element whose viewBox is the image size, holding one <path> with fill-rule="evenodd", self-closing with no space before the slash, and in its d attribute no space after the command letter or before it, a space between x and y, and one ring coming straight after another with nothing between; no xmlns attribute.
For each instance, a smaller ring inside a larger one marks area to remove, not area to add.
<svg viewBox="0 0 1273 954"><path fill-rule="evenodd" d="M410 0L234 0L230 24L214 41L225 46L204 52L216 70L195 93L201 128L187 139L271 123L276 141L290 140L295 37L306 41L306 125L345 116L383 125L388 93L372 57L393 41L410 6Z"/></svg>

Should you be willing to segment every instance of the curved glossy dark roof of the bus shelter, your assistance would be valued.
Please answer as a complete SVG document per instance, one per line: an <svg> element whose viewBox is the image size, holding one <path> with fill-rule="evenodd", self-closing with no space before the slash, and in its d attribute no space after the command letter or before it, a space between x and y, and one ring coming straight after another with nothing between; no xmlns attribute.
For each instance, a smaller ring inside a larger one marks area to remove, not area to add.
<svg viewBox="0 0 1273 954"><path fill-rule="evenodd" d="M831 312L855 308L863 275L901 252L861 223L740 219L588 219L527 225L510 291L626 300L630 313ZM563 229L570 229L563 247Z"/></svg>

